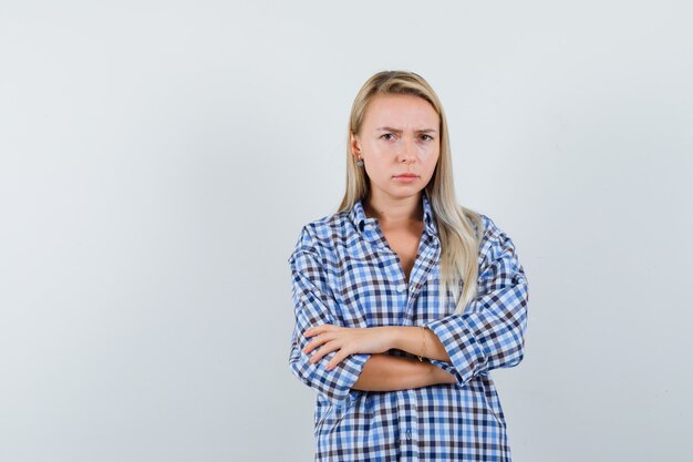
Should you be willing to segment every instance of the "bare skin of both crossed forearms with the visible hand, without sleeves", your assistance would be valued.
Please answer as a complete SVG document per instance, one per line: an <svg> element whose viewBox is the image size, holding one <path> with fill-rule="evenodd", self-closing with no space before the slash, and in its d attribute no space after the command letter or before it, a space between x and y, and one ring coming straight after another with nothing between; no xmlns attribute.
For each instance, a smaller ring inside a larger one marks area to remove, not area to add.
<svg viewBox="0 0 693 462"><path fill-rule="evenodd" d="M313 365L329 352L337 351L327 363L327 370L332 370L349 355L371 353L352 386L354 390L391 391L455 383L455 377L428 361L384 355L396 348L449 362L449 356L438 337L423 327L344 328L327 324L307 329L303 336L312 338L302 352L313 352L310 358Z"/></svg>

